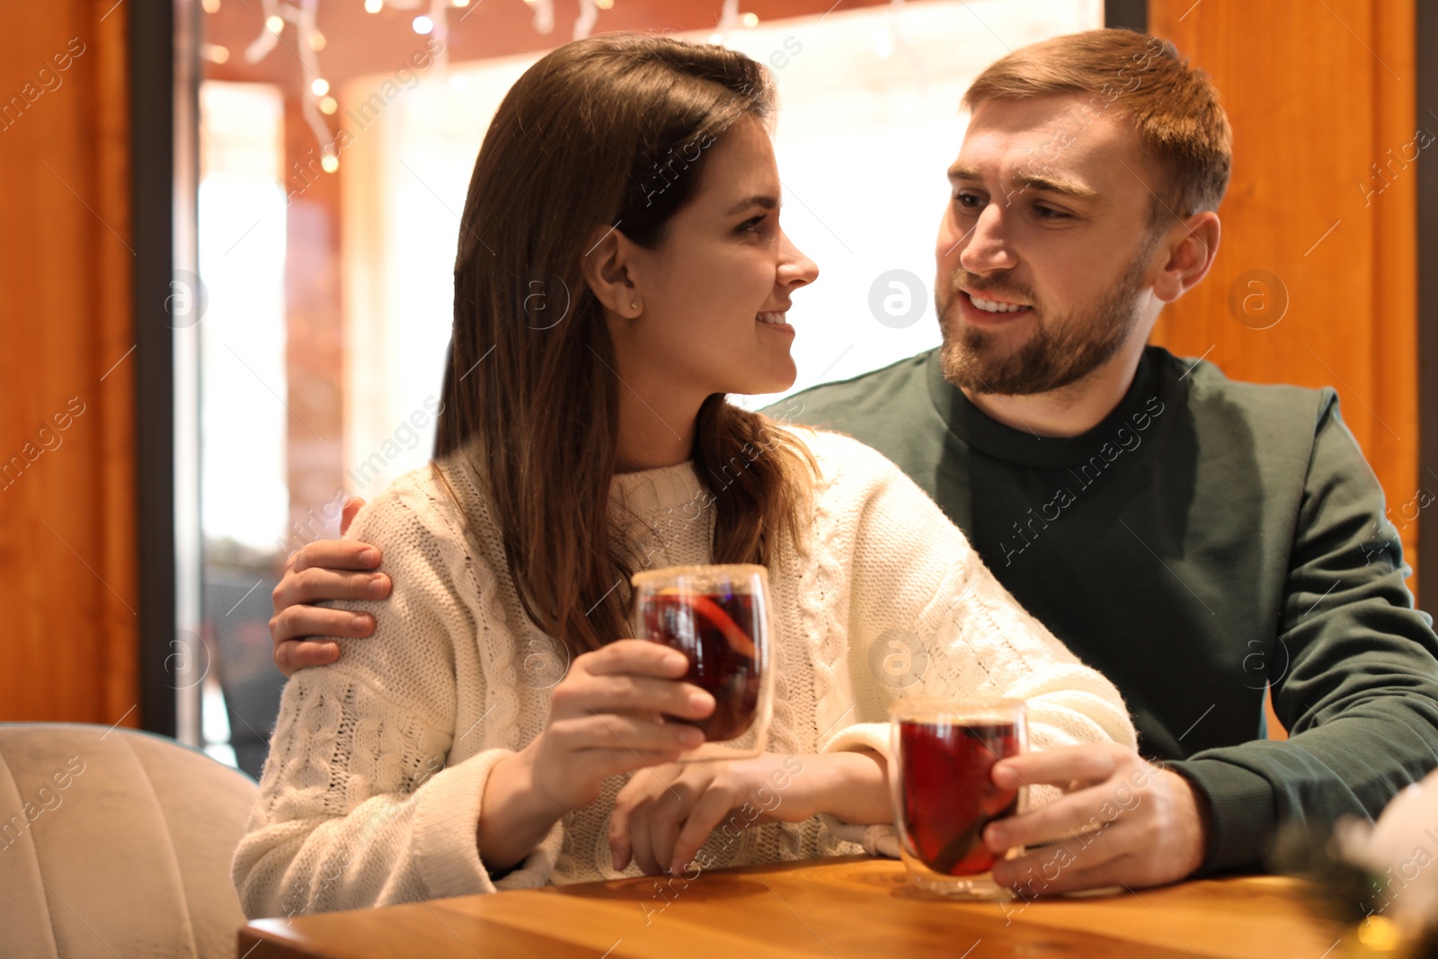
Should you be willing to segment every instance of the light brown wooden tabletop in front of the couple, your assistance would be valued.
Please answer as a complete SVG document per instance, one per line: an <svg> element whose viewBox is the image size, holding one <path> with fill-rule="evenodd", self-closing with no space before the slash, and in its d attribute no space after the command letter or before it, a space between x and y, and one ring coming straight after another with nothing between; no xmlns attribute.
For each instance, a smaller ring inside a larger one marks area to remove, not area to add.
<svg viewBox="0 0 1438 959"><path fill-rule="evenodd" d="M1333 959L1339 930L1310 917L1300 890L1291 878L1242 877L1136 894L955 903L912 890L896 861L846 857L710 871L663 891L654 878L627 878L265 919L240 930L237 955Z"/></svg>

